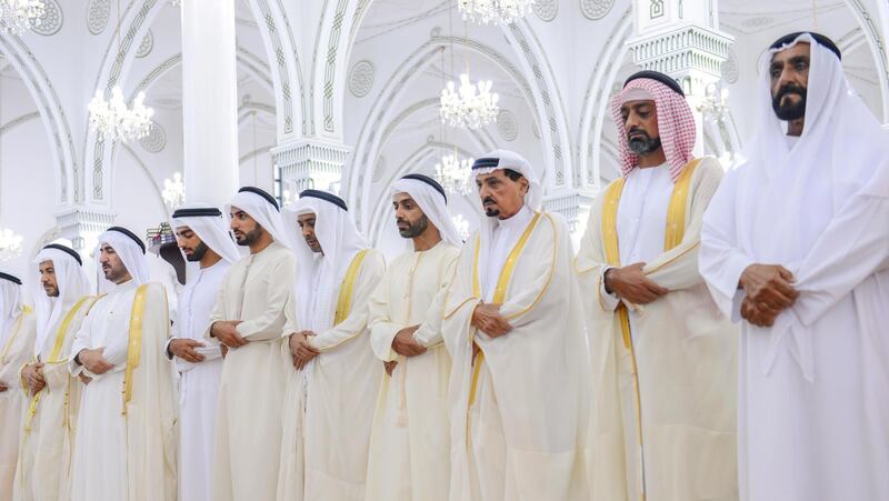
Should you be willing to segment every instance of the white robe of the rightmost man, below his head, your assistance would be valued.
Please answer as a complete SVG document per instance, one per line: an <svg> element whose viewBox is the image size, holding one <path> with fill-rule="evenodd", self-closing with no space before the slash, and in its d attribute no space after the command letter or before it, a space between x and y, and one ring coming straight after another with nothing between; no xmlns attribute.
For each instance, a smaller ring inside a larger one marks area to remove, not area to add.
<svg viewBox="0 0 889 501"><path fill-rule="evenodd" d="M751 263L782 264L800 292L771 328L741 321L742 500L889 492L889 171L863 171L875 179L853 191L817 164L747 164L727 174L707 211L700 268L723 311L741 320L739 279ZM842 198L831 193L843 187ZM771 228L782 234L755 237Z"/></svg>

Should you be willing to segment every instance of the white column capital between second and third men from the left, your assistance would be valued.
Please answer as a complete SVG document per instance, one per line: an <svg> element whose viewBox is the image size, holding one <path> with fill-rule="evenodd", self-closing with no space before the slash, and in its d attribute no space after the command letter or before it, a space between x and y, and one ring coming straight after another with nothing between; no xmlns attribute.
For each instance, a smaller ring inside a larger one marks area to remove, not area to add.
<svg viewBox="0 0 889 501"><path fill-rule="evenodd" d="M67 207L56 213L62 238L71 241L71 247L83 258L83 269L90 283L97 283L96 246L99 236L114 223L117 213L108 209L87 206Z"/></svg>

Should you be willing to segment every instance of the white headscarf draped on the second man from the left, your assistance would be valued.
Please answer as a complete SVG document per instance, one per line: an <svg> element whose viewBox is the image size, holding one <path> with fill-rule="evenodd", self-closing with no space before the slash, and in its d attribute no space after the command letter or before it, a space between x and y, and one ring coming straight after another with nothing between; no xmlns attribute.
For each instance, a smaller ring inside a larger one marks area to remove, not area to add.
<svg viewBox="0 0 889 501"><path fill-rule="evenodd" d="M112 246L113 247L113 246ZM56 272L56 283L59 295L50 298L43 290L40 281L40 263L52 261ZM32 294L34 298L34 312L37 313L37 340L34 342L34 357L40 354L47 339L53 339L59 329L59 322L77 302L89 294L89 279L83 271L83 261L78 252L59 243L50 243L37 253L31 261L36 267Z"/></svg>

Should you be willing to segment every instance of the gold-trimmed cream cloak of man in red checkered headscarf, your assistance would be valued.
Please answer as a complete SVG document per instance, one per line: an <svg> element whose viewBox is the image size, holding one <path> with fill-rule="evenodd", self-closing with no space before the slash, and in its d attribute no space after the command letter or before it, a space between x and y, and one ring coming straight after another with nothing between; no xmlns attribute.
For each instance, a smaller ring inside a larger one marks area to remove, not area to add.
<svg viewBox="0 0 889 501"><path fill-rule="evenodd" d="M593 499L738 499L738 332L698 272L701 220L722 174L716 160L703 159L677 180L666 250L643 269L670 292L642 307L608 308L601 291L607 265L630 264L619 262L617 240L625 181L592 206L576 265L592 354Z"/></svg>

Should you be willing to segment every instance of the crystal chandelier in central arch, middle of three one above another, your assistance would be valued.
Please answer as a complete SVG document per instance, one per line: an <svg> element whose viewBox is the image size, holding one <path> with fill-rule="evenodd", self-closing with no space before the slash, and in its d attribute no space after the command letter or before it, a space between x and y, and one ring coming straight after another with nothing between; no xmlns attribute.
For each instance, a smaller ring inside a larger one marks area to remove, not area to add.
<svg viewBox="0 0 889 501"><path fill-rule="evenodd" d="M460 74L460 90L453 81L441 90L439 114L441 121L450 127L480 129L497 119L500 96L491 92L491 81L483 80L473 86L467 73Z"/></svg>

